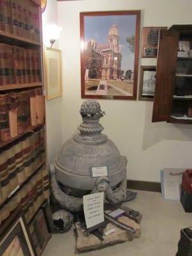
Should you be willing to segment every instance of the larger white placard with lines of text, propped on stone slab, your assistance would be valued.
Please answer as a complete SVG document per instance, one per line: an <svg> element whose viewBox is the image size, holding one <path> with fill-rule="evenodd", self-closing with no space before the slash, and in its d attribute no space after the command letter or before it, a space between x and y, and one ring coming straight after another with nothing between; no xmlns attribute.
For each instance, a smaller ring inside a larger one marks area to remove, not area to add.
<svg viewBox="0 0 192 256"><path fill-rule="evenodd" d="M104 192L83 196L83 211L87 228L102 223L104 221Z"/></svg>

